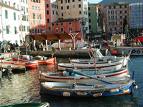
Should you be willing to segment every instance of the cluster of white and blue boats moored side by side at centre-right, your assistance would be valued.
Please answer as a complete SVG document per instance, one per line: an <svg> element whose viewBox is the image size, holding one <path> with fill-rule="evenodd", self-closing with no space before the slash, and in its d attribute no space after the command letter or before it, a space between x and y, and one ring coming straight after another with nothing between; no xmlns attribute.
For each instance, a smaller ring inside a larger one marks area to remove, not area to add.
<svg viewBox="0 0 143 107"><path fill-rule="evenodd" d="M64 97L99 97L130 94L136 86L128 70L129 56L103 56L58 63L55 72L39 72L41 94Z"/></svg>

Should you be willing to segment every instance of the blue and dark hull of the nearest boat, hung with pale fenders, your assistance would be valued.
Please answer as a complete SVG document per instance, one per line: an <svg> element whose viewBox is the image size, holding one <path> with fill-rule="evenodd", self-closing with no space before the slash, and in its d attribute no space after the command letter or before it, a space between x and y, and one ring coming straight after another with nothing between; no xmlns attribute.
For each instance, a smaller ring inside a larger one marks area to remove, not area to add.
<svg viewBox="0 0 143 107"><path fill-rule="evenodd" d="M47 83L48 84L48 83ZM66 86L66 88L53 88L48 86L46 83L41 84L41 91L45 92L46 94L52 96L61 96L61 97L103 97L103 96L116 96L116 95L123 95L123 94L130 94L132 88L132 82L127 84L121 85L120 87L115 86L114 88L107 88L107 89L98 89L98 88L89 88L85 89L84 87L75 88L70 86ZM51 84L51 83L49 83ZM74 86L73 86L74 87ZM88 86L86 86L87 88ZM41 93L43 94L43 93Z"/></svg>

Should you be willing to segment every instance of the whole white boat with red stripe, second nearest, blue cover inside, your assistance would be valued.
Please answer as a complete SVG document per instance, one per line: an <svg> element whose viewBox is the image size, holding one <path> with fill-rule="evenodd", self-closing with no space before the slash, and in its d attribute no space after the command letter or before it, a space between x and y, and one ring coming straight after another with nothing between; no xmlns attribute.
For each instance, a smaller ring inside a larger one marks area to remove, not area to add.
<svg viewBox="0 0 143 107"><path fill-rule="evenodd" d="M91 77L90 77L91 76ZM75 70L67 69L65 71L59 72L40 72L39 80L41 82L45 81L57 81L57 82L80 82L80 83L91 83L95 82L96 78L118 82L121 80L128 79L128 70L113 70L113 71L101 71L101 70Z"/></svg>

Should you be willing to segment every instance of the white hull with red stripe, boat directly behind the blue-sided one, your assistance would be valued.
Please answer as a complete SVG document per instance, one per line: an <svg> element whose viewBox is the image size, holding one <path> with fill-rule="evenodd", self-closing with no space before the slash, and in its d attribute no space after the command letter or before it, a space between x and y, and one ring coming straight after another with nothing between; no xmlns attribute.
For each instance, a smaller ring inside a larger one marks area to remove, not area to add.
<svg viewBox="0 0 143 107"><path fill-rule="evenodd" d="M82 72L82 71L81 71ZM88 72L88 71L86 71ZM93 72L93 71L90 71L90 72ZM98 71L97 71L98 72ZM85 72L84 72L85 73ZM60 72L60 73L53 73L52 75L50 75L51 73L40 73L40 76L39 76L39 80L41 82L45 82L45 81L57 81L57 82L67 82L67 83L75 83L75 82L80 82L80 83L93 83L95 82L95 79L94 79L94 76L96 78L100 78L100 79L103 79L103 80L108 80L108 81L118 81L118 80L121 80L123 79L125 76L128 75L128 70L127 69L124 69L124 70L120 70L120 71L117 71L117 72L107 72L107 73L101 73L100 72L98 73L98 75L92 75L93 76L93 79L91 78L88 78L88 77L85 77L85 76L81 76L81 75L73 75L73 76L70 76L70 75L66 75L64 74L64 72ZM85 73L86 74L86 73Z"/></svg>

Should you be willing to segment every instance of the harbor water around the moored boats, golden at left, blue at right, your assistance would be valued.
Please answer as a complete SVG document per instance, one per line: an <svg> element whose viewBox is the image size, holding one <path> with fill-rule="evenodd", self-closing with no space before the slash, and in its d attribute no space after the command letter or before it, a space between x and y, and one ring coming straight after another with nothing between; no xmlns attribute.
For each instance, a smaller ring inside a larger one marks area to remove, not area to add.
<svg viewBox="0 0 143 107"><path fill-rule="evenodd" d="M41 70L47 70L40 67ZM62 98L48 95L40 96L39 75L37 70L14 74L10 79L3 78L0 88L0 105L18 103L49 102L50 107L143 107L143 57L129 60L130 74L138 89L132 95L100 98Z"/></svg>

